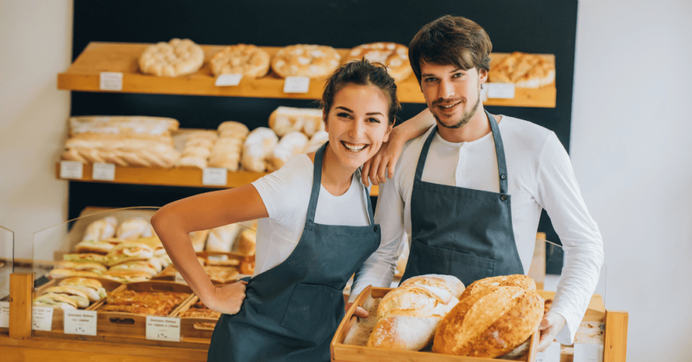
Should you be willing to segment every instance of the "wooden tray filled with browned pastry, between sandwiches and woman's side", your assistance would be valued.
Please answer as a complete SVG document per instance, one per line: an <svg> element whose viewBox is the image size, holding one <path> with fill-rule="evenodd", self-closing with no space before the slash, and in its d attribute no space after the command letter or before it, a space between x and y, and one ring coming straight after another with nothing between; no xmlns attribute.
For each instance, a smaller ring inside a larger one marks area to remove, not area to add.
<svg viewBox="0 0 692 362"><path fill-rule="evenodd" d="M147 315L173 316L193 296L190 287L176 282L123 284L93 307L98 312L96 330L146 336Z"/></svg>

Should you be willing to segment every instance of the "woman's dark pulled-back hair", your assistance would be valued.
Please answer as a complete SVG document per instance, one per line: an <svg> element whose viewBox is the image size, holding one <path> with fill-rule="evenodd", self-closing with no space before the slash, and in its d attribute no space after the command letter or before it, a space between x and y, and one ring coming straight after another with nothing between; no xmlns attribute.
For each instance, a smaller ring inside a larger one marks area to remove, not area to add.
<svg viewBox="0 0 692 362"><path fill-rule="evenodd" d="M365 59L343 64L329 77L320 102L325 114L329 113L336 93L349 84L373 85L379 88L389 100L388 121L390 125L394 124L397 111L401 109L397 98L397 84L394 84L394 78L387 73L384 66L379 63L372 64Z"/></svg>

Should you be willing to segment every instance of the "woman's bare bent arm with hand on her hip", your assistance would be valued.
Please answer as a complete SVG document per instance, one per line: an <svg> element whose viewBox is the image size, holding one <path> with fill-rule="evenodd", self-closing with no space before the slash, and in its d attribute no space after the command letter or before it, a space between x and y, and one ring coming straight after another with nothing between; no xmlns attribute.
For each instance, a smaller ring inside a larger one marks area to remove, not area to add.
<svg viewBox="0 0 692 362"><path fill-rule="evenodd" d="M154 214L152 226L176 269L200 300L210 309L236 314L245 298L245 283L215 287L197 261L190 233L262 217L268 217L262 197L248 184L169 203Z"/></svg>

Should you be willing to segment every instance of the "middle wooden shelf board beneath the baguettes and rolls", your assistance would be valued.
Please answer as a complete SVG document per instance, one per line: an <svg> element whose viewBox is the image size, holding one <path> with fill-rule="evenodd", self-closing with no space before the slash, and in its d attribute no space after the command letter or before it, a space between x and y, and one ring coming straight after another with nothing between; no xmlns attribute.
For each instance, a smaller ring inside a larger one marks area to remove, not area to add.
<svg viewBox="0 0 692 362"><path fill-rule="evenodd" d="M183 186L193 188L237 188L247 185L266 175L264 172L228 172L225 186L210 186L202 184L202 170L199 168L129 168L116 166L116 177L113 181L100 181L91 178L91 165L82 166L82 179L70 181L125 183L131 185ZM60 162L55 163L55 177L60 177ZM379 188L373 186L371 196L378 195Z"/></svg>

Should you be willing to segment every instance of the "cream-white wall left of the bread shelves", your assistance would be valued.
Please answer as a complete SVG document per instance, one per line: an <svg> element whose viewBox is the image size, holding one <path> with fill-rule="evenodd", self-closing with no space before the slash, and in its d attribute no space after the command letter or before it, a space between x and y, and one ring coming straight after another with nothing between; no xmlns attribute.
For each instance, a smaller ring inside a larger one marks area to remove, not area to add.
<svg viewBox="0 0 692 362"><path fill-rule="evenodd" d="M71 0L0 0L0 225L15 232L17 257L32 256L35 231L66 221L54 169L70 109L57 73L71 48Z"/></svg>

